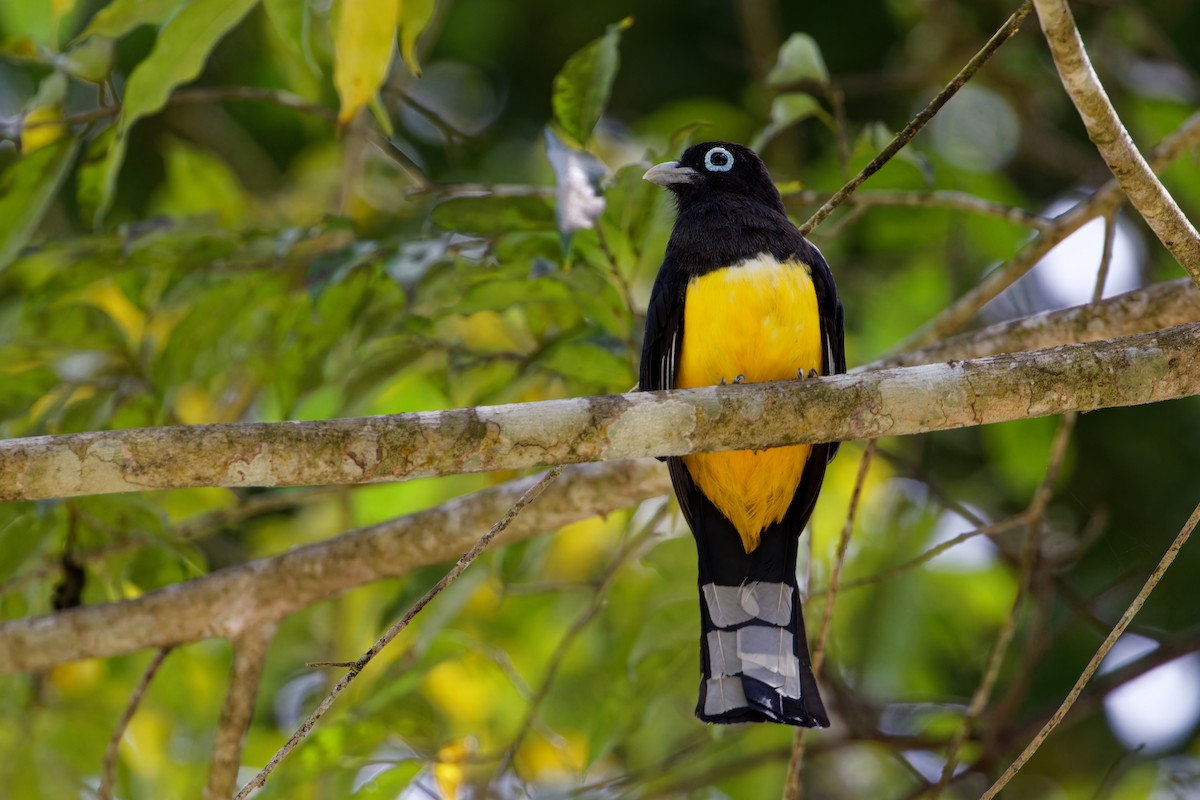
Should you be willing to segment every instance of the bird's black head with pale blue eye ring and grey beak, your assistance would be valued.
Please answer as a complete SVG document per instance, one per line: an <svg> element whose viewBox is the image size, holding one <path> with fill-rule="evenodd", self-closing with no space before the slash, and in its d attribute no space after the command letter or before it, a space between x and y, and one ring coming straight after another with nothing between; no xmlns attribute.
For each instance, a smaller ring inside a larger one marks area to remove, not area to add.
<svg viewBox="0 0 1200 800"><path fill-rule="evenodd" d="M784 201L762 158L750 148L731 142L692 145L679 161L650 167L644 178L671 190L680 211L719 196L746 198L784 211Z"/></svg>

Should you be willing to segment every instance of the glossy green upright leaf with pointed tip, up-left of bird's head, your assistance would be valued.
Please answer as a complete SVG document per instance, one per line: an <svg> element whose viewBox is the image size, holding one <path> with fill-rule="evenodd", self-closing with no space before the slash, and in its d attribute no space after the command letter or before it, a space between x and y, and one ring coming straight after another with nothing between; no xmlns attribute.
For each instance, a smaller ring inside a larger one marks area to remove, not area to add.
<svg viewBox="0 0 1200 800"><path fill-rule="evenodd" d="M608 25L604 36L572 55L554 76L554 121L578 146L592 138L592 131L612 91L613 78L620 62L620 34L634 24L632 17Z"/></svg>

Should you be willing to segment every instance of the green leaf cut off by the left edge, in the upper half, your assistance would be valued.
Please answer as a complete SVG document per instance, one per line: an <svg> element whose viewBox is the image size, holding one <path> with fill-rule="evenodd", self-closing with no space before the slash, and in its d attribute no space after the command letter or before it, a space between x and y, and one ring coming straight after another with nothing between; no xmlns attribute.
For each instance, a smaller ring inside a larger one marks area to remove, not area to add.
<svg viewBox="0 0 1200 800"><path fill-rule="evenodd" d="M0 270L17 258L37 230L78 148L78 138L47 145L0 176Z"/></svg>

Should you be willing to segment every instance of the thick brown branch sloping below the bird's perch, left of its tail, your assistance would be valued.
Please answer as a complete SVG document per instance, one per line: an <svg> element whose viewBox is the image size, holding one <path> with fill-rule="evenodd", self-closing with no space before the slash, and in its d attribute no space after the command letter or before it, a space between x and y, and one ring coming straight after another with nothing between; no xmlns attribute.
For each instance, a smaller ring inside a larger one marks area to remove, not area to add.
<svg viewBox="0 0 1200 800"><path fill-rule="evenodd" d="M0 625L0 674L198 639L236 638L354 587L455 559L503 517L538 476L456 498L287 553L218 570L134 600ZM503 542L528 539L670 491L653 461L563 470L541 500L517 517ZM163 643L163 644L158 644Z"/></svg>

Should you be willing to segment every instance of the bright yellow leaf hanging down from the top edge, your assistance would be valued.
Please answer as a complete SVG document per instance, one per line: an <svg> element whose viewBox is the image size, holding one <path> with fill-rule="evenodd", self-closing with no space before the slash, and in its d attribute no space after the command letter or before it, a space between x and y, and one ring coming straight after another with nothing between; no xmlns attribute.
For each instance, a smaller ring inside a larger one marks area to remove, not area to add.
<svg viewBox="0 0 1200 800"><path fill-rule="evenodd" d="M346 125L388 77L400 6L396 0L342 0L334 22L334 85Z"/></svg>

